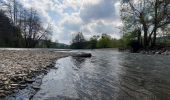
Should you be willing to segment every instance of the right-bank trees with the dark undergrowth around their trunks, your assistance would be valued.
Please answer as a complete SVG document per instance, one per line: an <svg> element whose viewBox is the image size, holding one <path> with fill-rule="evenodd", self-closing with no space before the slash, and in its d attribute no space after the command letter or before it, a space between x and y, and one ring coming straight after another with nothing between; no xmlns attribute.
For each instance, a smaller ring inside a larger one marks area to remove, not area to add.
<svg viewBox="0 0 170 100"><path fill-rule="evenodd" d="M123 40L134 49L151 49L170 36L170 0L122 0ZM170 38L169 38L170 39Z"/></svg>

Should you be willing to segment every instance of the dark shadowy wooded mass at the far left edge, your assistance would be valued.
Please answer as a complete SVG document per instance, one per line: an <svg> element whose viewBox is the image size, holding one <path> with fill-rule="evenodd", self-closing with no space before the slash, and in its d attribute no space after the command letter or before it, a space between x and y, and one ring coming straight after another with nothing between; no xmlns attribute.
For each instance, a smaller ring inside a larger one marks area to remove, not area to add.
<svg viewBox="0 0 170 100"><path fill-rule="evenodd" d="M20 29L11 23L10 19L0 12L0 46L22 47L23 38Z"/></svg>

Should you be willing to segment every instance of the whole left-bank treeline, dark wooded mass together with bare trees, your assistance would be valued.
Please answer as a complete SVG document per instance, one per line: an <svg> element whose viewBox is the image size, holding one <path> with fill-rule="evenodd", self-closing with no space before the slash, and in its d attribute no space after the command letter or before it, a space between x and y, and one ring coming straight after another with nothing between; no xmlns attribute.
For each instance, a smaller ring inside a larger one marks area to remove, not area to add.
<svg viewBox="0 0 170 100"><path fill-rule="evenodd" d="M35 9L27 9L17 0L0 1L0 47L34 48L42 40L47 43L52 28L44 26Z"/></svg>

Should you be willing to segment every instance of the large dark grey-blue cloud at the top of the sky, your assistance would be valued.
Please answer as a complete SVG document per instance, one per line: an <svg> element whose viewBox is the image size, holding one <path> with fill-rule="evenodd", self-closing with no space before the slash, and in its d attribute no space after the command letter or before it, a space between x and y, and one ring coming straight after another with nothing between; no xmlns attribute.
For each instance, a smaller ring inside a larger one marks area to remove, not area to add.
<svg viewBox="0 0 170 100"><path fill-rule="evenodd" d="M84 2L80 11L80 17L84 22L93 20L114 20L116 10L114 0L98 0L97 3Z"/></svg>

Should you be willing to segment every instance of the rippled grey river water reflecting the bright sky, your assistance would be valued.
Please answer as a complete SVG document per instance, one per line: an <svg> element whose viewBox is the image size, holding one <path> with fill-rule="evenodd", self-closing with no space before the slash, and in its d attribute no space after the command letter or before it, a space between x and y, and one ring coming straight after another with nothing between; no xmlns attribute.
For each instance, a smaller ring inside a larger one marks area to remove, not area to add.
<svg viewBox="0 0 170 100"><path fill-rule="evenodd" d="M58 60L32 100L170 100L170 56L84 52Z"/></svg>

